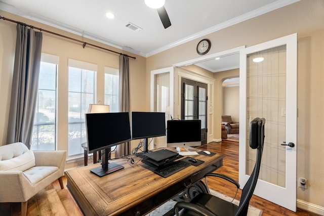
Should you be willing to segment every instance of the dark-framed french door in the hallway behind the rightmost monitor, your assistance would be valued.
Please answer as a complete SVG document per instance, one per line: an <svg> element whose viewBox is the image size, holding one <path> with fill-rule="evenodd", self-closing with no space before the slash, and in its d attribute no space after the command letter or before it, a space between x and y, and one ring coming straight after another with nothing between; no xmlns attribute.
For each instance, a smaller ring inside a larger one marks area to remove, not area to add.
<svg viewBox="0 0 324 216"><path fill-rule="evenodd" d="M181 78L181 119L201 120L201 144L207 143L207 84Z"/></svg>

